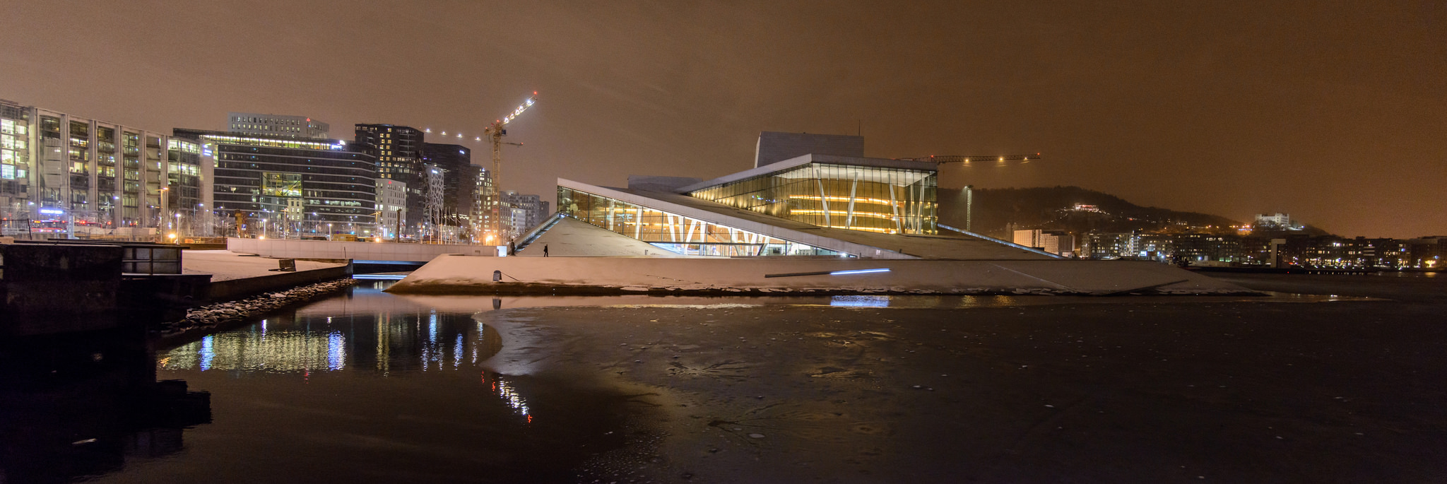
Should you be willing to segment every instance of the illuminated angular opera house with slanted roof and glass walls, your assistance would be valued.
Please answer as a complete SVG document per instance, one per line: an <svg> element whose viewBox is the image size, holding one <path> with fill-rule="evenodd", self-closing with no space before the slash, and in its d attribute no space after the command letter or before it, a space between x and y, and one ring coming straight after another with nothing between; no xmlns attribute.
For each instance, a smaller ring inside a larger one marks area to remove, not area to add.
<svg viewBox="0 0 1447 484"><path fill-rule="evenodd" d="M836 154L797 154L812 149ZM1059 258L941 226L938 164L857 157L862 149L858 136L765 132L752 170L709 181L635 175L628 188L560 178L557 210L682 255Z"/></svg>

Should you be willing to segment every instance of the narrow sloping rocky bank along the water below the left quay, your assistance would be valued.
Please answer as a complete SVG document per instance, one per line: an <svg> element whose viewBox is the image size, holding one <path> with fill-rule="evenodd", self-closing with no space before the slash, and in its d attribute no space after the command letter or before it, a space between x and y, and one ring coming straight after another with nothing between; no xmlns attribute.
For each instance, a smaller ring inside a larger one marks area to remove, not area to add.
<svg viewBox="0 0 1447 484"><path fill-rule="evenodd" d="M356 280L349 277L195 307L188 310L181 320L161 323L159 333L164 339L174 339L187 333L214 330L227 323L237 323L247 317L336 293L356 285Z"/></svg>

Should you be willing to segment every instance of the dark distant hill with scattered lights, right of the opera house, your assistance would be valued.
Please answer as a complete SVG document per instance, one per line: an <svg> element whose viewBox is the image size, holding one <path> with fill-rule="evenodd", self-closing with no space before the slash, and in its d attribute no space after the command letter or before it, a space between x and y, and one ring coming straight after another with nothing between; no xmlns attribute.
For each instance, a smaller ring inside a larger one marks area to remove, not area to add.
<svg viewBox="0 0 1447 484"><path fill-rule="evenodd" d="M1095 210L1074 210L1077 204ZM965 226L959 190L939 190L939 222ZM1074 233L1159 230L1188 226L1240 225L1221 216L1142 207L1120 197L1081 187L983 188L975 190L974 232L1009 239L1007 223L1016 229L1069 230Z"/></svg>

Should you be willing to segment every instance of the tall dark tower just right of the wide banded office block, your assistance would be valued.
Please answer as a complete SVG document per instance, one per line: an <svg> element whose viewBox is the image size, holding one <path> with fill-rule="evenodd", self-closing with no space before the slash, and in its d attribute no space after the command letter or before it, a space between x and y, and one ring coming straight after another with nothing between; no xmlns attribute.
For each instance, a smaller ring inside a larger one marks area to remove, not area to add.
<svg viewBox="0 0 1447 484"><path fill-rule="evenodd" d="M353 139L376 158L376 177L407 184L407 220L402 230L418 235L427 219L427 172L423 168L423 130L398 125L356 125Z"/></svg>

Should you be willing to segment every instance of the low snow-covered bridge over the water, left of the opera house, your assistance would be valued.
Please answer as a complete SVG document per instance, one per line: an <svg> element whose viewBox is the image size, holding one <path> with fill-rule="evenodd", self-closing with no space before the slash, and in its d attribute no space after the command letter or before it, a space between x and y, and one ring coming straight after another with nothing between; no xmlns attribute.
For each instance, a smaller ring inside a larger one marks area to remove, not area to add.
<svg viewBox="0 0 1447 484"><path fill-rule="evenodd" d="M226 249L289 259L353 259L356 264L427 264L443 254L496 256L506 246L227 238Z"/></svg>

